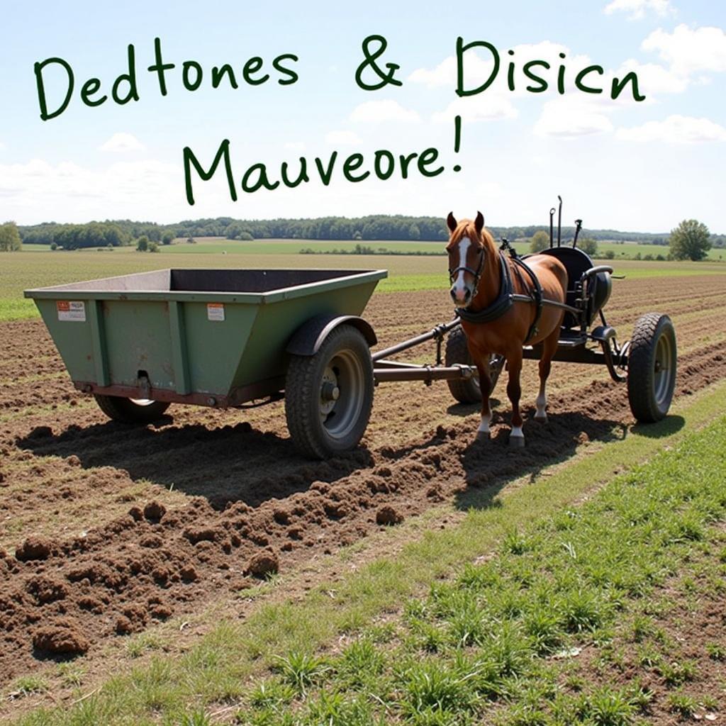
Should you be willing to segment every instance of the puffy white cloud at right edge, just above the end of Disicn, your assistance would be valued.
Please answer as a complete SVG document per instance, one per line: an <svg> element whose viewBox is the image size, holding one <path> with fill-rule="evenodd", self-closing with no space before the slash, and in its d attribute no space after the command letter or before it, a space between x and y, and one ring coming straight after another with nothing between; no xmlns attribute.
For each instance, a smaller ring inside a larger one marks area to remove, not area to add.
<svg viewBox="0 0 726 726"><path fill-rule="evenodd" d="M641 47L658 52L673 73L690 76L701 71L726 71L726 33L721 28L689 28L678 25L672 33L658 28Z"/></svg>

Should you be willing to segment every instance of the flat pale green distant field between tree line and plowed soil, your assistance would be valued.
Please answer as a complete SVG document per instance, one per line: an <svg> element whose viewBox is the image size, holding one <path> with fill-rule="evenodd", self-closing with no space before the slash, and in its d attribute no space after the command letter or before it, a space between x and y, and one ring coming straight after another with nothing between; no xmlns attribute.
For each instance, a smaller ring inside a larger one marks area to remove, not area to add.
<svg viewBox="0 0 726 726"><path fill-rule="evenodd" d="M0 320L36 317L33 301L23 298L29 287L61 285L97 277L144 272L164 267L322 267L387 269L388 279L378 285L381 293L413 290L444 290L447 284L444 256L396 255L301 255L301 248L318 250L353 248L355 242L311 242L272 240L269 242L230 242L213 240L196 245L163 247L158 253L138 253L134 248L50 252L45 245L26 245L21 253L4 253L0 265ZM439 242L380 242L391 250L441 250ZM518 245L524 247L525 245ZM625 245L613 245L617 248ZM644 245L640 245L644 246ZM648 245L645 245L648 246ZM226 251L227 254L222 254ZM616 273L630 278L682 277L697 274L723 274L726 267L715 263L641 262L613 260ZM617 283L616 283L617 285ZM616 287L617 294L617 287Z"/></svg>

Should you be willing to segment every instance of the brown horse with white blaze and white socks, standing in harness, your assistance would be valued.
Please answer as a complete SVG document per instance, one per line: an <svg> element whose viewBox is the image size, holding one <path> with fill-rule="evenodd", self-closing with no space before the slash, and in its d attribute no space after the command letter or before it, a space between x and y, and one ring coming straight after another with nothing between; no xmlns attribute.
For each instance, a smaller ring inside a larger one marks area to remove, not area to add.
<svg viewBox="0 0 726 726"><path fill-rule="evenodd" d="M478 212L476 219L462 219L457 222L449 213L446 224L451 232L446 251L449 253L449 275L452 281L451 296L458 309L470 313L486 311L501 302L502 264L509 266L510 280L515 295L531 295L533 282L526 274L515 269L510 259L499 256L494 238L484 228L484 216ZM542 299L564 303L567 290L567 271L563 264L549 255L533 255L527 264L534 272L542 288ZM510 445L524 446L522 416L519 412L521 387L519 375L522 370L522 346L524 343L542 343L542 358L539 361L539 396L535 420L546 421L547 395L544 386L550 375L552 356L557 350L560 325L564 311L555 306L542 306L541 317L536 319L537 306L526 301L515 301L503 306L502 314L489 322L468 322L463 319L469 352L479 372L481 387L481 425L476 438L489 439L489 393L492 379L489 377L489 358L494 354L505 356L509 370L507 396L512 401L512 432ZM472 317L472 316L468 316ZM476 317L476 316L474 316Z"/></svg>

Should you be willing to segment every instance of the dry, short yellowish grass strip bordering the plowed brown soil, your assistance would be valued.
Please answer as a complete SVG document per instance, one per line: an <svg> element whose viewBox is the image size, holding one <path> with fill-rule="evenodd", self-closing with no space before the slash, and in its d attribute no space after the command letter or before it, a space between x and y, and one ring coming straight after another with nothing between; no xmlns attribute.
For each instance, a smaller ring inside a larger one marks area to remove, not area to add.
<svg viewBox="0 0 726 726"><path fill-rule="evenodd" d="M425 532L395 559L376 560L343 582L322 585L302 603L263 605L245 623L224 622L181 658L153 658L148 666L108 680L70 709L41 709L20 723L139 724L158 714L176 723L189 703L240 698L245 680L277 663L277 654L314 652L341 633L362 631L381 613L398 611L412 595L491 550L510 531L511 523L527 526L558 512L592 486L608 481L613 461L626 467L645 460L665 444L680 440L685 428L696 428L719 415L725 401L726 383L713 386L688 399L688 406L676 407L674 413L680 415L636 428L624 440L603 446L554 476L541 476L497 497L493 505L484 491L483 508L471 510L460 526Z"/></svg>

